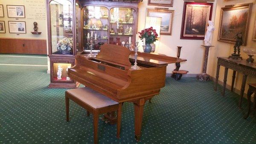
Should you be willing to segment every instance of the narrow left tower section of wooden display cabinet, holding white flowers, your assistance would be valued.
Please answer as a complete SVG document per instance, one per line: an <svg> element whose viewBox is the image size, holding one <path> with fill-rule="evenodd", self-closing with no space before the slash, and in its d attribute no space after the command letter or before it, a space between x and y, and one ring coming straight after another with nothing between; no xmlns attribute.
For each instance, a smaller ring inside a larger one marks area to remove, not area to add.
<svg viewBox="0 0 256 144"><path fill-rule="evenodd" d="M67 69L75 65L81 47L81 5L76 0L47 0L47 12L49 88L76 88L78 84L68 77Z"/></svg>

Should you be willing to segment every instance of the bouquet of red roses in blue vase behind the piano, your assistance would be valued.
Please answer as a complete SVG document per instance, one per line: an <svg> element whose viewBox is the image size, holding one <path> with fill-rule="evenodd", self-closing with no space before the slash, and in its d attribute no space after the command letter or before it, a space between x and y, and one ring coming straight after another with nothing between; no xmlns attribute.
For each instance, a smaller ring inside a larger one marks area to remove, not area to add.
<svg viewBox="0 0 256 144"><path fill-rule="evenodd" d="M157 41L157 32L155 29L153 29L153 27L150 27L148 29L144 29L142 30L141 32L139 32L140 34L140 39L143 40L143 49L144 49L144 52L147 52L147 53L150 53L151 52L151 44L154 43L155 41Z"/></svg>

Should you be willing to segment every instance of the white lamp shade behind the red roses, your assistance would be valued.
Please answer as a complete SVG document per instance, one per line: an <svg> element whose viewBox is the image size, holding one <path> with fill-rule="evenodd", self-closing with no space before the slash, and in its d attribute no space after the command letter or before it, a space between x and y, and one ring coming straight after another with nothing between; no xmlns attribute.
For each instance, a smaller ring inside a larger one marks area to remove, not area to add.
<svg viewBox="0 0 256 144"><path fill-rule="evenodd" d="M160 37L161 20L162 17L146 17L145 29L152 26L156 30L158 37Z"/></svg>

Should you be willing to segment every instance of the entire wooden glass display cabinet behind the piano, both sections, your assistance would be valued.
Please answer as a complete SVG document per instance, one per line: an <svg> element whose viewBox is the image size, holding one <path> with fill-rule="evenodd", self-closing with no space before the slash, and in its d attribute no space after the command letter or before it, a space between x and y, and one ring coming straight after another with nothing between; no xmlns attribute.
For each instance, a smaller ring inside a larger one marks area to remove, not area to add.
<svg viewBox="0 0 256 144"><path fill-rule="evenodd" d="M47 0L49 88L76 88L67 69L76 54L100 50L105 43L127 46L137 33L141 0ZM90 38L90 39L89 39ZM88 40L90 42L88 42Z"/></svg>

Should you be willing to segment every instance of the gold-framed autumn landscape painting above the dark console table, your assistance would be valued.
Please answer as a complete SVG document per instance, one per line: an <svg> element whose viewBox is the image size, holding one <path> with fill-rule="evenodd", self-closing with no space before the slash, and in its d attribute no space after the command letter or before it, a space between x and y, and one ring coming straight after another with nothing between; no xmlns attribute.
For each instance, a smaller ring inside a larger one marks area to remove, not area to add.
<svg viewBox="0 0 256 144"><path fill-rule="evenodd" d="M246 46L252 3L230 5L221 8L218 41L236 43L236 35L241 32Z"/></svg>

